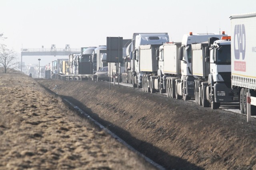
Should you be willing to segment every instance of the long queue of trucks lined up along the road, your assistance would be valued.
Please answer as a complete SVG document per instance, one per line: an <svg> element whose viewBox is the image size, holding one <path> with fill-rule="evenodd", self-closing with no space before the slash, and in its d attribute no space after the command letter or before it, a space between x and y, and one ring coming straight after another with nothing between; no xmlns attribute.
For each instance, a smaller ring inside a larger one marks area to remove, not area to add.
<svg viewBox="0 0 256 170"><path fill-rule="evenodd" d="M194 98L212 109L239 102L241 113L251 106L256 114L256 13L232 15L230 20L231 36L224 31L190 32L181 42L170 42L168 33L133 33L123 39L121 63L107 63L105 45L83 47L80 54L69 55L65 73L94 74L108 66L111 81L122 80L144 92Z"/></svg>

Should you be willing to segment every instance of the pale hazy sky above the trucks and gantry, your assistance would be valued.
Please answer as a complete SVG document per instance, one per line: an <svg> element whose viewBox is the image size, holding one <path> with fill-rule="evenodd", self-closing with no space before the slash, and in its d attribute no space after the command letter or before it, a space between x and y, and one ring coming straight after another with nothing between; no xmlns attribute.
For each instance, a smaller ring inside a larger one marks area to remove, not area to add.
<svg viewBox="0 0 256 170"><path fill-rule="evenodd" d="M97 47L134 32L167 32L170 41L181 41L190 31L230 34L229 17L248 12L256 12L255 0L0 0L0 33L8 37L0 43L19 53L52 44ZM54 60L43 58L42 64Z"/></svg>

